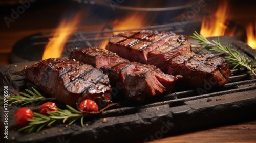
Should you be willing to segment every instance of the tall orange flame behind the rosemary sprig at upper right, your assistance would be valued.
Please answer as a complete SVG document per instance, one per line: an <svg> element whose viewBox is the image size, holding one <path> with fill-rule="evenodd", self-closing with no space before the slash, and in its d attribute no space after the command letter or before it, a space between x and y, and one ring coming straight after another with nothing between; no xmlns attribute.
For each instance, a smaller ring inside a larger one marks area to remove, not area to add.
<svg viewBox="0 0 256 143"><path fill-rule="evenodd" d="M229 2L228 1L218 1L221 2L218 4L218 9L215 12L214 16L204 16L202 21L202 26L200 33L205 37L211 36L223 36L232 34L225 34L227 26L225 22L227 21L229 14Z"/></svg>

